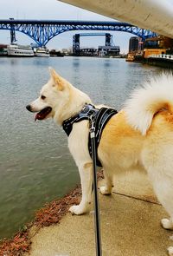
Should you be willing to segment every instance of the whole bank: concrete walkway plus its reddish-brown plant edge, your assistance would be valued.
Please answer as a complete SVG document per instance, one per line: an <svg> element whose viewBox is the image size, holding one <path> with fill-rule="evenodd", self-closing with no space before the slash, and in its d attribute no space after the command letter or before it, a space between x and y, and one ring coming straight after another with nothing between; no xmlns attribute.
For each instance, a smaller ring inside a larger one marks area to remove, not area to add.
<svg viewBox="0 0 173 256"><path fill-rule="evenodd" d="M101 172L98 176L99 188L104 180ZM93 202L91 211L80 218L68 213L80 196L78 186L42 207L24 231L0 246L0 256L76 256L79 252L83 256L95 255ZM159 221L167 214L153 194L146 174L134 170L117 178L111 196L99 194L99 206L104 255L134 256L140 252L143 256L166 256L170 232L161 228Z"/></svg>

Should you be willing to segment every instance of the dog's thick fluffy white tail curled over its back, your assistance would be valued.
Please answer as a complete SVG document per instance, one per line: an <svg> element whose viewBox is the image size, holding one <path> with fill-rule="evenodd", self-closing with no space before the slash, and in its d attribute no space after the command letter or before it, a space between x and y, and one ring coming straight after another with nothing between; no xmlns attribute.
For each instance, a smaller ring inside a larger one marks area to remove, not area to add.
<svg viewBox="0 0 173 256"><path fill-rule="evenodd" d="M125 102L125 113L129 124L146 135L151 127L153 115L162 108L173 109L173 75L163 74L145 82L135 89ZM171 111L172 112L172 111Z"/></svg>

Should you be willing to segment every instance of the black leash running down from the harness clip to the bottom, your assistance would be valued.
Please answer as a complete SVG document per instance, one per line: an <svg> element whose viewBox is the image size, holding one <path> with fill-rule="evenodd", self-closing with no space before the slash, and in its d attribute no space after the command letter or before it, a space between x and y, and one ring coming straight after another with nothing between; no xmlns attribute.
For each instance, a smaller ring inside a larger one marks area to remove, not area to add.
<svg viewBox="0 0 173 256"><path fill-rule="evenodd" d="M94 202L94 220L95 220L95 244L96 255L101 256L101 233L100 233L100 221L99 221L99 197L97 189L97 152L95 144L95 121L93 115L90 115L90 138L92 144L92 159L93 159L93 202Z"/></svg>

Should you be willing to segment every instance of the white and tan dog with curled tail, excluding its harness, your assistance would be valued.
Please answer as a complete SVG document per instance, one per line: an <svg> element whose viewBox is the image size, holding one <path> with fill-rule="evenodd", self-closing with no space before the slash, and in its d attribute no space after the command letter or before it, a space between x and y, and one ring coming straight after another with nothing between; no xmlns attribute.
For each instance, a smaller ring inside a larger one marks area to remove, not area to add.
<svg viewBox="0 0 173 256"><path fill-rule="evenodd" d="M78 114L84 105L93 104L88 95L50 69L50 80L41 94L27 106L38 112L35 120L49 117L62 125ZM101 106L97 107L101 108ZM93 187L92 159L88 152L88 121L73 124L68 147L79 168L82 199L79 206L70 207L75 214L86 213ZM173 229L173 77L160 75L143 88L137 89L125 108L113 115L101 135L99 161L104 168L106 185L101 194L111 194L112 176L137 167L145 169L158 200L170 214L163 219L164 228ZM169 247L173 255L173 247Z"/></svg>

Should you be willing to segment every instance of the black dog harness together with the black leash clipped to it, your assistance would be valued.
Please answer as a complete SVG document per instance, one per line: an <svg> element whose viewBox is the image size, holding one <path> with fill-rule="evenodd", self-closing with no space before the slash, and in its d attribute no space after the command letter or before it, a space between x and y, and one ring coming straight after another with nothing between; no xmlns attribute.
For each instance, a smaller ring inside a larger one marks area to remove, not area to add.
<svg viewBox="0 0 173 256"><path fill-rule="evenodd" d="M81 111L63 121L62 127L67 136L70 135L73 124L75 122L89 120L89 140L88 151L93 159L93 202L94 202L94 219L95 219L95 244L96 255L101 256L101 233L99 224L99 197L97 189L97 166L101 167L101 162L98 159L97 149L99 147L99 141L102 135L102 131L106 126L112 115L116 115L118 112L113 108L95 108L92 104L85 104Z"/></svg>

